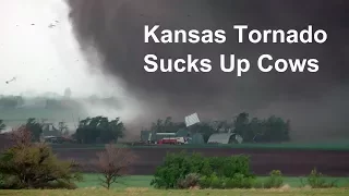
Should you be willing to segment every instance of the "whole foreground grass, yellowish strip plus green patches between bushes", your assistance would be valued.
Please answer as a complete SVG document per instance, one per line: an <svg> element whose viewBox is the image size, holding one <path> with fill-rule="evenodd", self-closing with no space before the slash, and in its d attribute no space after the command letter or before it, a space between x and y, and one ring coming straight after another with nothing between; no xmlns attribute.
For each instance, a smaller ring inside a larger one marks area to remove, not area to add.
<svg viewBox="0 0 349 196"><path fill-rule="evenodd" d="M346 177L328 177L328 181L337 180L338 188L312 189L309 187L299 188L300 177L284 177L281 188L272 189L171 189L160 191L151 187L152 175L132 175L120 179L119 183L107 191L101 188L98 174L84 174L84 181L77 183L79 187L74 191L68 189L31 189L31 191L1 191L0 196L158 196L158 195L197 195L197 196L347 196L349 195L349 181ZM260 176L258 179L263 179Z"/></svg>

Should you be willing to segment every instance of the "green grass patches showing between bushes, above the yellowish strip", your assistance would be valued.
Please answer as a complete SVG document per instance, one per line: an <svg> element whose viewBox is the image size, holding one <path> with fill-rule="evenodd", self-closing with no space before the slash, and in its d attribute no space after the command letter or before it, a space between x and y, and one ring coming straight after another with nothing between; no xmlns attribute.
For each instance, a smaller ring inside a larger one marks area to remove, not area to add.
<svg viewBox="0 0 349 196"><path fill-rule="evenodd" d="M84 174L84 181L77 183L79 187L100 187L98 181L98 174ZM113 187L125 188L125 187L146 187L151 188L152 175L131 175L120 179L119 183ZM263 180L264 176L260 176L258 180ZM305 181L305 179L303 180ZM328 182L336 181L339 187L349 187L348 177L327 177ZM284 184L289 185L292 188L300 187L302 185L301 177L284 177Z"/></svg>

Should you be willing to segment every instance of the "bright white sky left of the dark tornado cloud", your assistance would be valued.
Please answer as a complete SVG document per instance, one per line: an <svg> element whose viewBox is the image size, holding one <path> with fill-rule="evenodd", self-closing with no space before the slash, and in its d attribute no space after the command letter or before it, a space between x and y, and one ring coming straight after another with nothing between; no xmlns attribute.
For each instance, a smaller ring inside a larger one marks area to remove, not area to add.
<svg viewBox="0 0 349 196"><path fill-rule="evenodd" d="M0 0L0 94L62 95L67 87L73 96L117 91L110 79L86 69L68 11L62 0ZM5 83L13 77L16 81ZM97 91L99 85L108 88Z"/></svg>

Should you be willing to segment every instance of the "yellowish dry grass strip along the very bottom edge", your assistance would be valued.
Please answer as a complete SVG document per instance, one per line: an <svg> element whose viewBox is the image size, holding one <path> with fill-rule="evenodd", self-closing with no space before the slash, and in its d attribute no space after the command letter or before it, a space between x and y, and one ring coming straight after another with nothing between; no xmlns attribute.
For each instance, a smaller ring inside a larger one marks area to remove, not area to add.
<svg viewBox="0 0 349 196"><path fill-rule="evenodd" d="M122 188L122 189L103 189L103 188L79 188L74 191L51 189L51 191L0 191L0 196L157 196L157 195L202 195L202 196L347 196L349 189L329 188L329 189L311 189L311 188L278 188L278 189L189 189L189 191L158 191L152 188Z"/></svg>

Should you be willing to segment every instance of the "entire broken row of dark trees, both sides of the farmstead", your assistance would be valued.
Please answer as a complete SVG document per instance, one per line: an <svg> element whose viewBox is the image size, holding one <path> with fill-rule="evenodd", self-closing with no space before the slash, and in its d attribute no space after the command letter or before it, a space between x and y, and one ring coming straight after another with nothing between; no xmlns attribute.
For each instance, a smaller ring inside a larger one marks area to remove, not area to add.
<svg viewBox="0 0 349 196"><path fill-rule="evenodd" d="M31 131L34 142L40 139L44 133L44 124L33 118L28 119L24 124ZM5 124L0 120L0 132L4 128ZM158 119L146 131L152 133L177 133L180 130L186 130L191 134L202 134L205 143L215 133L236 133L242 136L244 143L280 143L290 139L290 121L285 121L275 115L267 119L250 118L246 112L240 113L230 122L201 122L190 127L186 127L184 122L173 122L172 118L168 117L164 120ZM60 122L58 131L61 135L67 135L67 124ZM110 120L106 117L95 117L81 120L71 136L80 144L107 144L117 142L125 133L125 125L120 118Z"/></svg>

